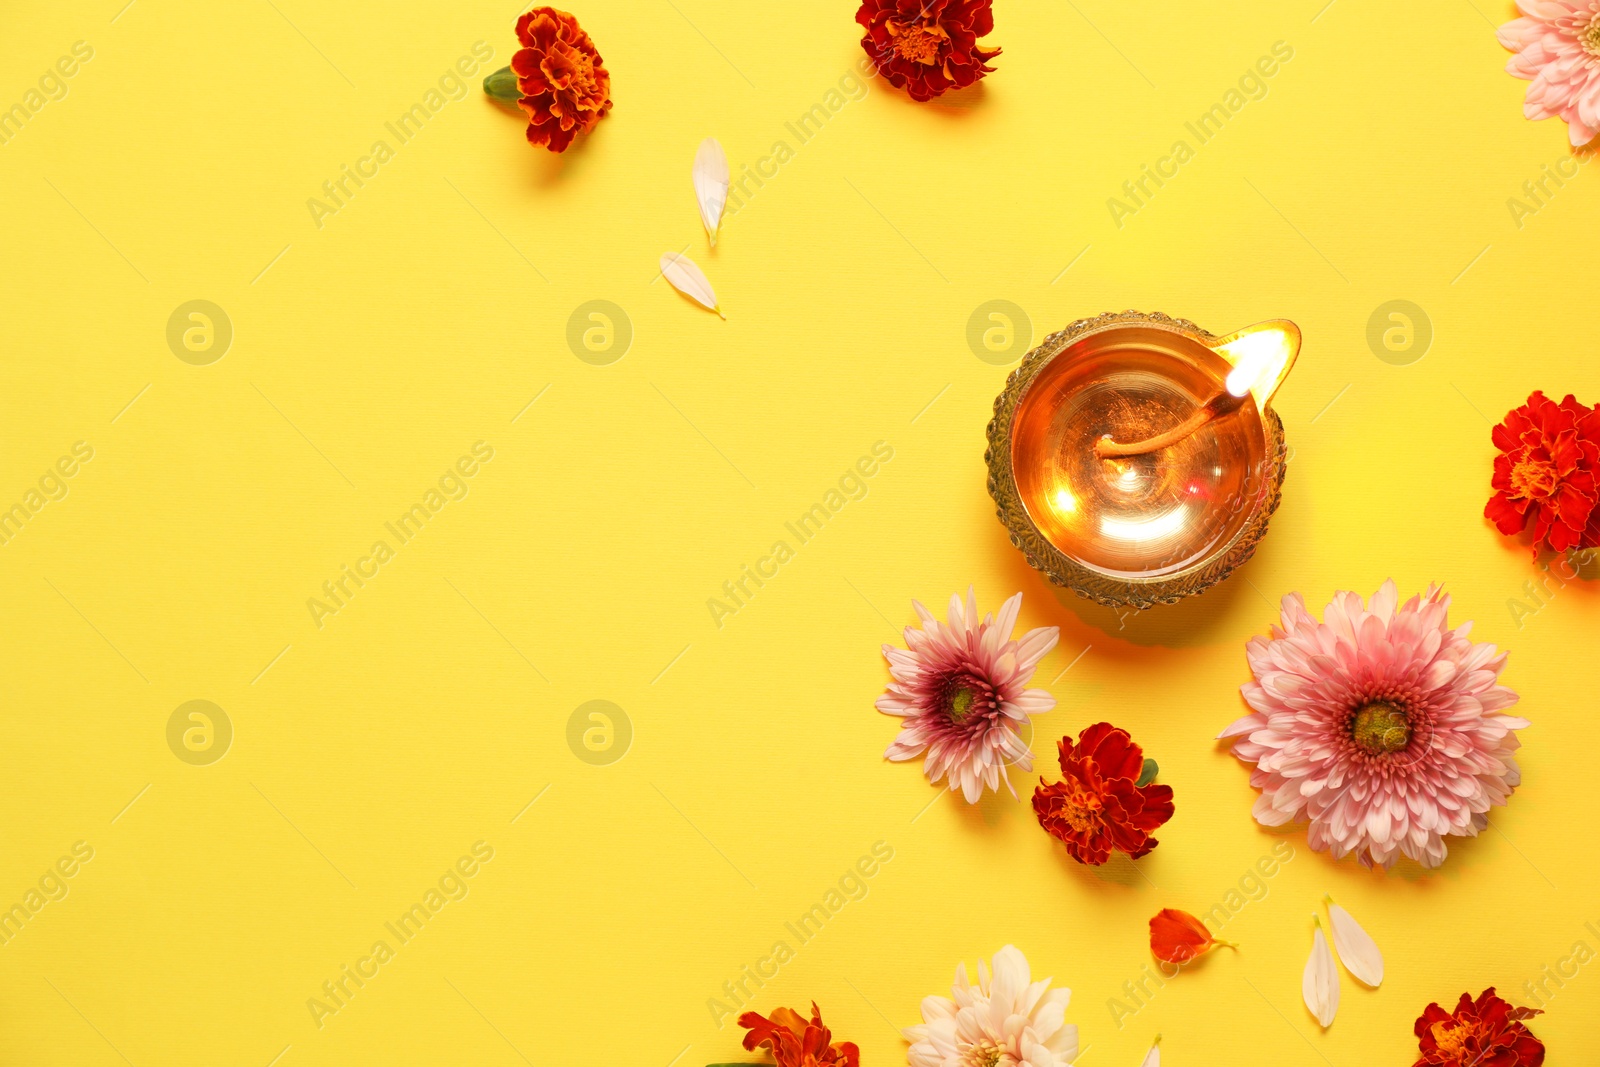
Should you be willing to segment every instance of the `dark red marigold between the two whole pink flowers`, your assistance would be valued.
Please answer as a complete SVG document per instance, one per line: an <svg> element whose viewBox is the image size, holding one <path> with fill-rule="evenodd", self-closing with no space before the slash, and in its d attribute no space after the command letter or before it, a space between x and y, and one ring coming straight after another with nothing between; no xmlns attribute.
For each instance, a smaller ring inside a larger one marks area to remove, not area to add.
<svg viewBox="0 0 1600 1067"><path fill-rule="evenodd" d="M1150 832L1173 817L1170 785L1139 785L1144 752L1126 729L1094 723L1078 734L1077 745L1062 737L1064 781L1034 790L1038 825L1067 846L1080 864L1099 867L1112 849L1133 859L1155 848Z"/></svg>

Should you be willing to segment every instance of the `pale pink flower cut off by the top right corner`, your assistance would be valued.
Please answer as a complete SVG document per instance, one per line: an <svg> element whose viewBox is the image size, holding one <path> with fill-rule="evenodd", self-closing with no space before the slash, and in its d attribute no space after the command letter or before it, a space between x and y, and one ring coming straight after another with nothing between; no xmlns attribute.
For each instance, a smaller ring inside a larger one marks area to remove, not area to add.
<svg viewBox="0 0 1600 1067"><path fill-rule="evenodd" d="M1528 118L1566 122L1574 147L1600 133L1600 0L1517 0L1523 18L1499 27L1515 56L1506 70L1525 82Z"/></svg>

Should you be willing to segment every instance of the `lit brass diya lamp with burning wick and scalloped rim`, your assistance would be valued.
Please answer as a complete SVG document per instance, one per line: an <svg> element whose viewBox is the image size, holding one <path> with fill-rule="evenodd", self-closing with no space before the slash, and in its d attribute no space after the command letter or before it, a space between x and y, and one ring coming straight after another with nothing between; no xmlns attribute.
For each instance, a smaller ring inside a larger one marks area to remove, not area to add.
<svg viewBox="0 0 1600 1067"><path fill-rule="evenodd" d="M1248 560L1286 462L1272 395L1299 328L1219 338L1107 312L1050 334L1011 371L989 422L989 493L1030 566L1080 597L1150 608Z"/></svg>

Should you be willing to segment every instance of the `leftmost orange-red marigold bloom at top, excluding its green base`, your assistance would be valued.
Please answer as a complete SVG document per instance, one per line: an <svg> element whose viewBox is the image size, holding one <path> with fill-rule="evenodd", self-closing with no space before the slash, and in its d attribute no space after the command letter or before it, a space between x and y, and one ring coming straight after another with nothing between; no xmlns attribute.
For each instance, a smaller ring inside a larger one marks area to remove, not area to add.
<svg viewBox="0 0 1600 1067"><path fill-rule="evenodd" d="M528 141L565 152L611 110L611 72L566 11L533 8L517 19L522 50L510 58L528 112Z"/></svg>

